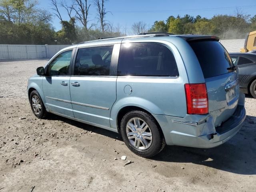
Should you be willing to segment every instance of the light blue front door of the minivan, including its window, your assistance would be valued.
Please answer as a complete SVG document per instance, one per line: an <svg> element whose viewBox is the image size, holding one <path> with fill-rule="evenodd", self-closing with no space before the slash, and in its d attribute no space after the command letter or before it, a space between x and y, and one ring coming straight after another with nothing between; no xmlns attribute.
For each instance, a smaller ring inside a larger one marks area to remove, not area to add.
<svg viewBox="0 0 256 192"><path fill-rule="evenodd" d="M70 99L70 60L72 50L60 53L47 66L42 86L48 110L74 117Z"/></svg>

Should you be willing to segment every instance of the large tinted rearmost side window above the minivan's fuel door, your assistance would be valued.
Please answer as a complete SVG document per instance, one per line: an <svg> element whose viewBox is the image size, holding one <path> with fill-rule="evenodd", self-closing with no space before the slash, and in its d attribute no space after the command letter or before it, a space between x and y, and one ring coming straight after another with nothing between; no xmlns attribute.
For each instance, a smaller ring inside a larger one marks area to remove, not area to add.
<svg viewBox="0 0 256 192"><path fill-rule="evenodd" d="M119 76L178 76L172 52L159 43L123 43L118 60Z"/></svg>

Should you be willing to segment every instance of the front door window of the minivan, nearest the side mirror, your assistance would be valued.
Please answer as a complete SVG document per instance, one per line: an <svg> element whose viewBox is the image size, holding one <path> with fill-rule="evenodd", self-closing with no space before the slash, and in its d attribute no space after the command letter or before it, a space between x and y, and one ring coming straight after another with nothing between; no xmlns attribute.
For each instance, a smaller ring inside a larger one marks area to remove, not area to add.
<svg viewBox="0 0 256 192"><path fill-rule="evenodd" d="M47 67L49 76L68 75L72 50L59 54Z"/></svg>

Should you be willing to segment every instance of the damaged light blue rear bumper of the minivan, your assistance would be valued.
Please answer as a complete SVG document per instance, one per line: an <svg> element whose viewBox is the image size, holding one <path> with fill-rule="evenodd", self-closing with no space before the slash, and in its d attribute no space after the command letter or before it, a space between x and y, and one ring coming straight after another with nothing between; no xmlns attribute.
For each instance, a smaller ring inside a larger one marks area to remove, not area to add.
<svg viewBox="0 0 256 192"><path fill-rule="evenodd" d="M246 117L244 94L240 92L238 106L234 114L216 128L211 114L186 115L185 118L153 116L162 128L167 145L212 148L232 138L242 127L242 122Z"/></svg>

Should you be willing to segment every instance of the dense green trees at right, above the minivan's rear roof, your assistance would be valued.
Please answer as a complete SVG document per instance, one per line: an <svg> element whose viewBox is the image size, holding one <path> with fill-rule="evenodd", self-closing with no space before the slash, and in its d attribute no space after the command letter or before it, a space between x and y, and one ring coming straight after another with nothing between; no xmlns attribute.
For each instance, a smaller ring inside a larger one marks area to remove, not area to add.
<svg viewBox="0 0 256 192"><path fill-rule="evenodd" d="M155 21L150 32L169 32L172 34L214 35L220 39L245 38L250 31L256 30L256 15L251 17L236 10L234 16L215 15L210 19L200 15L193 17L169 16L166 21Z"/></svg>

